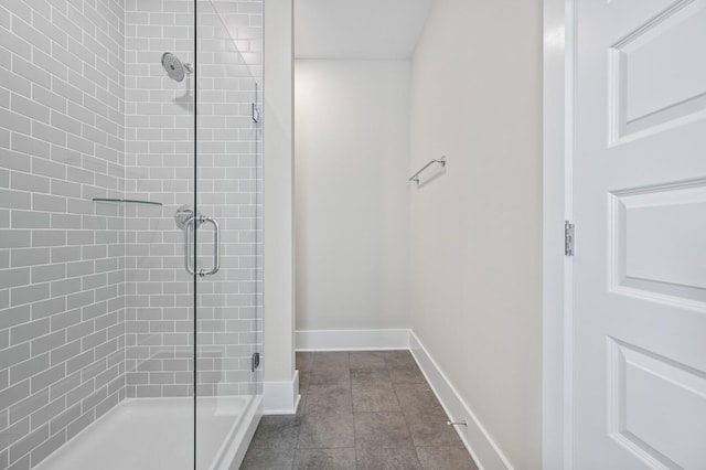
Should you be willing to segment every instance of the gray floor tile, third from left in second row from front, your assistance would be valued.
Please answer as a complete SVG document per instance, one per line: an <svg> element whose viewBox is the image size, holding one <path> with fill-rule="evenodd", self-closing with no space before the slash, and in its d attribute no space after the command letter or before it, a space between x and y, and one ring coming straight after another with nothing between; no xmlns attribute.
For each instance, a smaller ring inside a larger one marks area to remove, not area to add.
<svg viewBox="0 0 706 470"><path fill-rule="evenodd" d="M355 413L355 447L411 447L413 441L398 412Z"/></svg>

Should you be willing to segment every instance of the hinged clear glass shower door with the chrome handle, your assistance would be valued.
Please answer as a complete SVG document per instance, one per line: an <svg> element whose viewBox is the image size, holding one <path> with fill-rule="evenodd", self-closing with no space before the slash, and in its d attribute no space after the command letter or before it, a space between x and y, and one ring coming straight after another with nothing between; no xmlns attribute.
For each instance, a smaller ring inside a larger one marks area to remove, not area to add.
<svg viewBox="0 0 706 470"><path fill-rule="evenodd" d="M196 1L196 468L227 469L261 396L257 84L223 17Z"/></svg>

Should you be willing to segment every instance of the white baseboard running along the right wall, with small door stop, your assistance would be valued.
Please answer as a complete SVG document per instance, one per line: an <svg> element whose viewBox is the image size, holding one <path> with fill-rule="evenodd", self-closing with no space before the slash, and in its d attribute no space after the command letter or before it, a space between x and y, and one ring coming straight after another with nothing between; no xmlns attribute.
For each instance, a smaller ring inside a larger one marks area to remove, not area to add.
<svg viewBox="0 0 706 470"><path fill-rule="evenodd" d="M452 421L466 421L467 426L457 426L463 445L469 450L480 470L512 469L512 466L500 451L493 439L471 409L466 405L453 385L443 375L437 363L431 359L425 346L414 332L409 332L409 350L415 356L419 368L427 377L434 393L443 406Z"/></svg>

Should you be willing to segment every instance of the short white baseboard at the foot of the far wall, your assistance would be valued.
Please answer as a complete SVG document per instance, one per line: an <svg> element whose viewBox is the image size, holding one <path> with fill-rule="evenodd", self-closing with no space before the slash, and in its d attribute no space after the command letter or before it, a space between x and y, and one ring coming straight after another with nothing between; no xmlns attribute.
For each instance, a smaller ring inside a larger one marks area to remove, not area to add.
<svg viewBox="0 0 706 470"><path fill-rule="evenodd" d="M408 350L409 330L299 330L297 351Z"/></svg>

